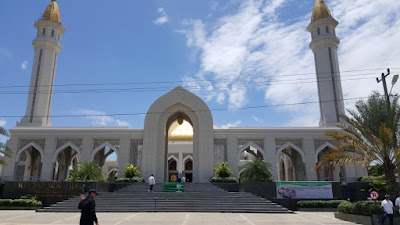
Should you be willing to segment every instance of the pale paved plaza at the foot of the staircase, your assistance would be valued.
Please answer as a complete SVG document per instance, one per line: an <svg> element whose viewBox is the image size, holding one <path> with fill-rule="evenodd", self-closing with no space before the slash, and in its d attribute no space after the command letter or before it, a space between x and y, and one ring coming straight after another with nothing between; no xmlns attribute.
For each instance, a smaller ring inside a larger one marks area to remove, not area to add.
<svg viewBox="0 0 400 225"><path fill-rule="evenodd" d="M295 214L231 214L231 213L98 213L100 225L314 225L354 224L334 218L329 212ZM79 224L79 213L35 213L34 211L0 211L0 225Z"/></svg>

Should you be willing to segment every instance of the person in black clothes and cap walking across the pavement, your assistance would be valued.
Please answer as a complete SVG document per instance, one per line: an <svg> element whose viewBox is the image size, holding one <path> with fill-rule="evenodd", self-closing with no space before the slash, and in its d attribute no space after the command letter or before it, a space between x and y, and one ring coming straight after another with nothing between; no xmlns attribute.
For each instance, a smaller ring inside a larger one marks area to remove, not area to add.
<svg viewBox="0 0 400 225"><path fill-rule="evenodd" d="M90 189L86 198L84 195L81 195L81 201L79 202L78 206L78 209L81 210L80 225L93 225L93 222L95 222L96 225L99 225L96 216L95 203L97 195L98 194L95 189Z"/></svg>

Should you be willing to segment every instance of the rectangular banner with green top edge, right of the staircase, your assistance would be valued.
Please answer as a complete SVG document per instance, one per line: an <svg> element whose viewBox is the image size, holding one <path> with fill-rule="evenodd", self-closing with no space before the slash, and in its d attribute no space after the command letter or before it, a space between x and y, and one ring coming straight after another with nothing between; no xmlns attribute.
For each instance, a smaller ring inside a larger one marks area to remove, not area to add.
<svg viewBox="0 0 400 225"><path fill-rule="evenodd" d="M331 182L276 182L278 199L333 199Z"/></svg>

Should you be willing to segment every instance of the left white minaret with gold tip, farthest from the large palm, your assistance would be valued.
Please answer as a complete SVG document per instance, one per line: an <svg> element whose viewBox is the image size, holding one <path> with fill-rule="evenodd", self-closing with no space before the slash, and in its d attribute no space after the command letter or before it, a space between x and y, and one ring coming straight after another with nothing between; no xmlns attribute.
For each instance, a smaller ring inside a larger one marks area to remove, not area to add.
<svg viewBox="0 0 400 225"><path fill-rule="evenodd" d="M62 49L61 36L65 33L61 25L58 4L52 0L40 20L36 21L38 30L33 41L35 56L33 60L31 83L25 116L17 126L50 127L50 109L53 85L57 67L57 56Z"/></svg>

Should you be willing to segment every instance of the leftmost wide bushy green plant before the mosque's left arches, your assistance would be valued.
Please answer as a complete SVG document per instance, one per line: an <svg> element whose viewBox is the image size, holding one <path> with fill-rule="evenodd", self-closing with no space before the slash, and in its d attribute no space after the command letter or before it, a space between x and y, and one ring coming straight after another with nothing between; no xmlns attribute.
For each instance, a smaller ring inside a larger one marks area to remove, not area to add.
<svg viewBox="0 0 400 225"><path fill-rule="evenodd" d="M95 162L82 161L79 163L78 170L73 170L69 174L70 181L104 181L101 167Z"/></svg>

